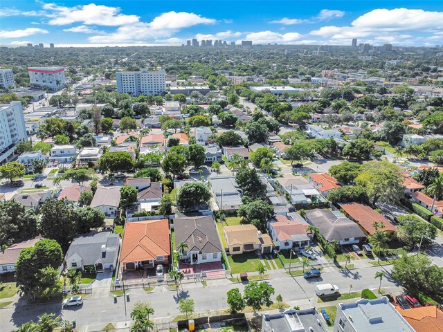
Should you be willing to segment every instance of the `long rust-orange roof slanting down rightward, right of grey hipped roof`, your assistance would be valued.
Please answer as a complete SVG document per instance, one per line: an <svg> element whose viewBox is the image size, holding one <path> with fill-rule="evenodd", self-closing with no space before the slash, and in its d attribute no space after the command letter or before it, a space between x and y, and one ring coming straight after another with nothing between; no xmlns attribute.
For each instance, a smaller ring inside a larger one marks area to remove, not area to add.
<svg viewBox="0 0 443 332"><path fill-rule="evenodd" d="M345 216L359 224L366 236L375 233L375 228L373 226L375 222L383 223L384 227L381 228L381 230L389 235L394 234L397 230L395 225L392 225L388 219L368 205L353 202L341 204L340 208L345 212Z"/></svg>

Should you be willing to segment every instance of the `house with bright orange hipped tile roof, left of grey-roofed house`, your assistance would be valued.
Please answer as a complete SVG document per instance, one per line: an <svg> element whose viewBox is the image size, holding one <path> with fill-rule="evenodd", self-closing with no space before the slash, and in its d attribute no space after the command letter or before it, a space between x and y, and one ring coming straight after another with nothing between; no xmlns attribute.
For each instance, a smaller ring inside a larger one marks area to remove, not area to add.
<svg viewBox="0 0 443 332"><path fill-rule="evenodd" d="M168 219L127 222L123 234L120 264L123 270L154 268L170 261Z"/></svg>

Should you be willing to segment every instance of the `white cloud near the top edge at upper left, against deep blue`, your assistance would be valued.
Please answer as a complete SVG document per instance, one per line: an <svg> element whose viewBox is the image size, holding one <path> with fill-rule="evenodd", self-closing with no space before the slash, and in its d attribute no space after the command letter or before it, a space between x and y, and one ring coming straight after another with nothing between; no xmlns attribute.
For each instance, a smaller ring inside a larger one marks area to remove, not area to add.
<svg viewBox="0 0 443 332"><path fill-rule="evenodd" d="M138 22L136 15L120 14L120 8L96 5L64 7L55 3L45 3L43 8L51 11L48 24L53 26L63 26L75 22L83 24L93 24L98 26L121 26L123 24L134 24Z"/></svg>

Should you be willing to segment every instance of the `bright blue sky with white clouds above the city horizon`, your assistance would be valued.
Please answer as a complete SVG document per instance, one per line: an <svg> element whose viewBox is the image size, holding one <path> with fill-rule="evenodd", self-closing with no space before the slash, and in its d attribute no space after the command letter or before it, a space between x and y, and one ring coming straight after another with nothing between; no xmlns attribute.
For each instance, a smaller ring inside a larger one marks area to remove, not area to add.
<svg viewBox="0 0 443 332"><path fill-rule="evenodd" d="M239 44L435 46L443 44L443 1L31 1L1 0L0 44Z"/></svg>

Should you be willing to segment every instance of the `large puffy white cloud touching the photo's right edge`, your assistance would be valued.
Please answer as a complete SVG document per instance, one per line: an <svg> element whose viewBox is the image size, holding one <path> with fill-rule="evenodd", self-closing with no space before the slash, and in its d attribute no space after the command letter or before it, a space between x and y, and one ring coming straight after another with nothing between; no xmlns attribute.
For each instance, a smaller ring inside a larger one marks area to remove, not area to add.
<svg viewBox="0 0 443 332"><path fill-rule="evenodd" d="M408 32L443 28L443 12L396 8L376 9L361 15L351 26L322 26L309 34L328 38L329 44L349 44L359 38L367 43L410 44Z"/></svg>

